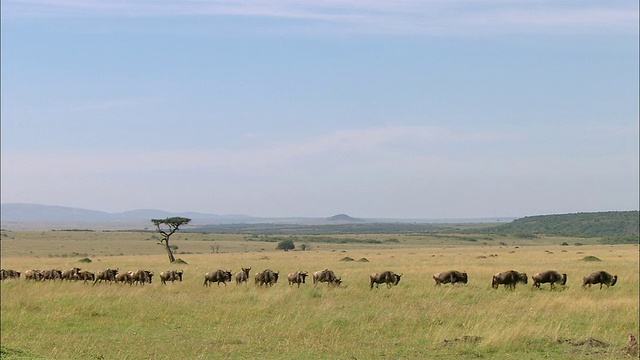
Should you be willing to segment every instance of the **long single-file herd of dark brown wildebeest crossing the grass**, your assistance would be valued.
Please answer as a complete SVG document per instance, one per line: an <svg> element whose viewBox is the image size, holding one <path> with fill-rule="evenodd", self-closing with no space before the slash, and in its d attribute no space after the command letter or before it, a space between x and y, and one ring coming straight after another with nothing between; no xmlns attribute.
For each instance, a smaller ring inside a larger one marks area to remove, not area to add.
<svg viewBox="0 0 640 360"><path fill-rule="evenodd" d="M241 268L241 270L235 275L236 284L242 284L249 281L250 267ZM174 281L182 281L183 270L167 270L160 273L160 282L166 285L168 281L172 283ZM6 279L20 279L21 272L16 270L0 269L0 280ZM296 271L287 275L289 285L296 284L300 287L300 284L305 283L305 279L309 275L306 271ZM25 281L83 281L85 284L89 281L93 282L93 285L97 283L123 283L129 285L141 285L145 283L151 284L154 273L150 270L136 270L121 272L119 269L105 269L92 273L90 271L83 271L80 268L74 267L69 270L61 269L49 269L49 270L27 270L24 272ZM376 288L379 284L385 284L387 288L398 285L402 274L396 274L393 271L383 271L369 276L369 288ZM255 284L257 286L270 287L278 282L279 271L273 271L266 269L258 272L254 276ZM324 269L316 271L312 274L313 286L317 286L319 283L327 283L330 286L339 286L342 283L342 278L336 276L336 274L330 269ZM210 286L212 283L227 285L227 282L232 280L231 270L216 270L204 274L203 286ZM468 282L468 276L466 272L460 272L456 270L449 270L440 272L433 275L435 286L441 284L466 284ZM548 283L550 289L553 290L556 284L561 286L567 283L567 274L561 274L555 270L548 270L541 273L537 273L531 276L533 281L532 288L540 288L541 284ZM614 286L618 281L617 275L611 275L606 271L596 271L588 274L582 279L582 287L591 287L591 285L600 284L607 287ZM491 287L497 289L500 285L504 285L506 289L515 289L518 283L527 284L528 278L526 273L521 273L515 270L508 270L497 273L491 278Z"/></svg>

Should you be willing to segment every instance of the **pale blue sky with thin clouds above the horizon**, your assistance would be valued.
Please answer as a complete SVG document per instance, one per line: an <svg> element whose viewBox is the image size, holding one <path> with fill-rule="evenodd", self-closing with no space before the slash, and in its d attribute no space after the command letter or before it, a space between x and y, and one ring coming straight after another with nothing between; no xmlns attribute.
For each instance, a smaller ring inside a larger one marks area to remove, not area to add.
<svg viewBox="0 0 640 360"><path fill-rule="evenodd" d="M637 210L638 1L2 0L1 200Z"/></svg>

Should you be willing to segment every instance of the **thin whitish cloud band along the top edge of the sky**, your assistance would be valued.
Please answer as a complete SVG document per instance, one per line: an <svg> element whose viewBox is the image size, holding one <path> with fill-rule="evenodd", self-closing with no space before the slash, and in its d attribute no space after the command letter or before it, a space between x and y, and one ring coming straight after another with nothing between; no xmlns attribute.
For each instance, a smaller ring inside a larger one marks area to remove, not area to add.
<svg viewBox="0 0 640 360"><path fill-rule="evenodd" d="M241 16L300 20L323 31L396 34L637 33L638 2L527 1L70 1L8 0L13 17ZM286 24L273 24L286 27ZM339 29L339 30L336 30ZM298 28L299 30L299 28Z"/></svg>

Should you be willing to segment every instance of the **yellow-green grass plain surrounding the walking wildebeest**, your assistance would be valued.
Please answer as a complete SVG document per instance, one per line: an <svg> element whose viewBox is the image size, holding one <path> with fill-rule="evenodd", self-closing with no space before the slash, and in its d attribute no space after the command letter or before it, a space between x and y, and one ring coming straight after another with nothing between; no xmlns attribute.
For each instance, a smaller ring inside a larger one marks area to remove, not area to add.
<svg viewBox="0 0 640 360"><path fill-rule="evenodd" d="M621 349L638 333L637 245L458 234L346 238L300 238L310 251L283 252L274 238L180 233L172 243L188 264L175 266L152 232L3 232L5 269L181 268L185 276L144 287L3 281L2 358L631 358ZM78 263L82 257L92 262ZM341 261L347 257L356 261ZM281 279L271 288L202 286L205 272L247 266L252 275L279 271ZM324 268L343 285L287 285L288 272ZM403 274L400 284L370 290L369 274L387 269ZM434 287L431 275L449 269L468 272L469 283ZM491 276L509 269L555 269L567 273L567 286L492 289ZM582 277L596 270L617 274L618 284L582 289Z"/></svg>

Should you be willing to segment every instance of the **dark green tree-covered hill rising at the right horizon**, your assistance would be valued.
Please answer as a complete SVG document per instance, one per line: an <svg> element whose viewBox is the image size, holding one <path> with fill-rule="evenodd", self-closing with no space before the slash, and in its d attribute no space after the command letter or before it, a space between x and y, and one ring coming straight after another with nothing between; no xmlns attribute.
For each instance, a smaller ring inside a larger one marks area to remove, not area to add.
<svg viewBox="0 0 640 360"><path fill-rule="evenodd" d="M638 238L639 228L640 213L638 211L609 211L527 216L490 228L489 231L511 234Z"/></svg>

